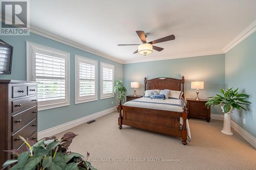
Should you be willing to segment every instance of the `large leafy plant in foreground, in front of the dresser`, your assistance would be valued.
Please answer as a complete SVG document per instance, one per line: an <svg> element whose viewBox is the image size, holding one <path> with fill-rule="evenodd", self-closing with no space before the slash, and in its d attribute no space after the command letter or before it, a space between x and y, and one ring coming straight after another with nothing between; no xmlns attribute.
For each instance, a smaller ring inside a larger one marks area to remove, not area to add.
<svg viewBox="0 0 256 170"><path fill-rule="evenodd" d="M3 164L3 169L13 164L10 170L97 170L88 161L89 153L87 153L87 157L84 158L81 154L69 151L68 148L75 136L77 135L68 132L60 139L56 139L56 137L53 136L51 138L43 138L37 142L28 139L26 140L22 136L19 136L20 139L26 143L28 151L7 151L17 155L17 159L7 160Z"/></svg>

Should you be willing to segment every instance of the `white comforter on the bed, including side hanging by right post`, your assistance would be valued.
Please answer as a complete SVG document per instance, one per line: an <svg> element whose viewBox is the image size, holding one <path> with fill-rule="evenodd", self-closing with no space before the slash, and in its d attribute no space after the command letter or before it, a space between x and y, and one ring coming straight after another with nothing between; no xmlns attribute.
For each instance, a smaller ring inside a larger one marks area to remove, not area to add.
<svg viewBox="0 0 256 170"><path fill-rule="evenodd" d="M183 112L184 101L179 99L151 99L151 98L138 98L123 104L123 106L132 106L148 109L167 110L175 112ZM180 118L180 124L183 125L183 119ZM188 141L191 140L190 128L188 119L186 119L187 137Z"/></svg>

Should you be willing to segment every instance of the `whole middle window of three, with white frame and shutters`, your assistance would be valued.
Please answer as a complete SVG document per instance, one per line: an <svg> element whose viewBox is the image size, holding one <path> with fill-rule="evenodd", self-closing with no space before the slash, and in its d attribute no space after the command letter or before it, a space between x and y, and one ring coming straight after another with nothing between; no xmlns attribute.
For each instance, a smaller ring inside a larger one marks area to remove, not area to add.
<svg viewBox="0 0 256 170"><path fill-rule="evenodd" d="M98 100L98 61L75 55L75 104Z"/></svg>

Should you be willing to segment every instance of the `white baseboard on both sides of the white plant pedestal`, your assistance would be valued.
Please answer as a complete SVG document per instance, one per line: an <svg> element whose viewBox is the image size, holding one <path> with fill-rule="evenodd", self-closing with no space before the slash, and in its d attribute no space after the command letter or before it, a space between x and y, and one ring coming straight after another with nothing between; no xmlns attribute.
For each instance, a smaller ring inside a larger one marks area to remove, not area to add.
<svg viewBox="0 0 256 170"><path fill-rule="evenodd" d="M211 114L212 119L223 120L223 114ZM256 138L249 134L246 130L241 128L237 123L231 120L231 127L235 130L238 134L240 134L245 140L247 140L254 148L256 148Z"/></svg>

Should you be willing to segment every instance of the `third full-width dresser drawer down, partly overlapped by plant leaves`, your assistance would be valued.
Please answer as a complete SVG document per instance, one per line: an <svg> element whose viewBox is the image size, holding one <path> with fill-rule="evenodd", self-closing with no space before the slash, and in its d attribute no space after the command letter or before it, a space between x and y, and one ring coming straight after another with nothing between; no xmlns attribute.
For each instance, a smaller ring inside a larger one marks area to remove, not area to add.
<svg viewBox="0 0 256 170"><path fill-rule="evenodd" d="M19 136L27 139L35 131L37 131L37 119L34 119L24 128L20 129L18 132L12 135L12 148L17 149L20 145L22 145L23 140L20 139Z"/></svg>

